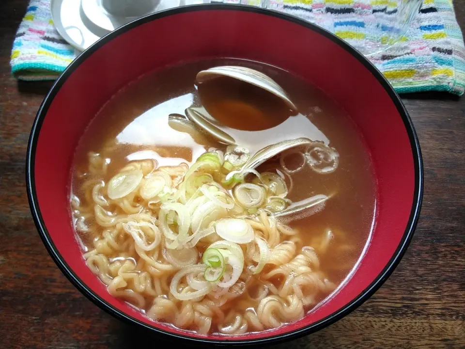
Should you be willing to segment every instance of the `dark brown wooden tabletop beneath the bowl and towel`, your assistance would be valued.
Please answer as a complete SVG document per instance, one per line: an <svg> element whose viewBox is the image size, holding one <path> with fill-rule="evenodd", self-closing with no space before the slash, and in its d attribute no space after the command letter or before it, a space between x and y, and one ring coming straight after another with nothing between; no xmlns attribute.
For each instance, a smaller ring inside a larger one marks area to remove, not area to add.
<svg viewBox="0 0 465 349"><path fill-rule="evenodd" d="M0 349L160 348L82 296L48 256L25 187L29 132L49 83L9 60L28 0L0 3ZM465 28L465 5L456 1ZM424 158L415 237L392 276L349 316L274 348L465 348L465 97L406 95Z"/></svg>

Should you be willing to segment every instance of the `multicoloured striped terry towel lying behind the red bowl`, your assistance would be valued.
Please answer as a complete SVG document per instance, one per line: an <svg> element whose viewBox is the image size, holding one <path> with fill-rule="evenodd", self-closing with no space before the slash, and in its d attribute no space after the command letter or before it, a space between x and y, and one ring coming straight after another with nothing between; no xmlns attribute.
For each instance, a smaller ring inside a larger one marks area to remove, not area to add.
<svg viewBox="0 0 465 349"><path fill-rule="evenodd" d="M365 40L363 44L369 44L373 34L365 18L354 15L356 4L357 0L284 0L280 10L317 23L351 43ZM387 12L389 4L389 0L372 0L364 10ZM11 55L17 79L56 79L79 54L54 29L49 5L50 0L31 0L19 26ZM465 47L452 0L424 0L406 37L370 60L399 93L463 95Z"/></svg>

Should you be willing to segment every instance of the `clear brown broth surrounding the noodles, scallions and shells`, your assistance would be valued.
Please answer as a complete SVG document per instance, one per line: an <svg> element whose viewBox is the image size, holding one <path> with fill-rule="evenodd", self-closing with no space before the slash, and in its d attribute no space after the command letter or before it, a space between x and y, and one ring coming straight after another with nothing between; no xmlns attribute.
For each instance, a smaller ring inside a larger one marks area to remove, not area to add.
<svg viewBox="0 0 465 349"><path fill-rule="evenodd" d="M289 111L268 92L233 79L218 78L195 86L197 72L216 65L242 65L263 71L284 88L299 113ZM356 267L373 229L376 190L370 155L349 115L334 100L308 82L272 66L231 59L190 62L147 74L117 92L97 113L77 147L71 191L83 211L93 205L89 186L85 185L89 179L90 152L108 159L106 174L97 178L107 183L130 161L155 159L158 166L181 162L191 165L210 147L224 150L225 146L208 138L202 139L206 143L199 144L168 126L169 114L184 114L192 105L205 106L220 123L229 127L228 133L239 144L248 144L251 153L270 142L297 137L329 143L337 150L339 166L333 173L318 174L305 167L291 174L293 189L288 198L292 201L316 194L331 198L320 212L297 217L287 224L299 232L303 246L315 249L326 278L335 286L341 285ZM272 159L259 172L276 167L279 162ZM112 212L121 213L118 207ZM92 226L92 214L86 217L86 224ZM104 228L93 228L90 232L76 230L84 254L94 250ZM109 257L110 263L118 259L112 258ZM265 266L263 272L269 269ZM260 275L253 276L257 280L250 288L260 285ZM330 293L319 294L305 310L314 309ZM141 310L148 311L154 297L143 296L146 302ZM228 309L241 313L255 306L244 294L223 305L225 314ZM215 321L214 318L209 333L218 332ZM195 331L195 328L187 330ZM249 326L247 332L252 331L256 330Z"/></svg>

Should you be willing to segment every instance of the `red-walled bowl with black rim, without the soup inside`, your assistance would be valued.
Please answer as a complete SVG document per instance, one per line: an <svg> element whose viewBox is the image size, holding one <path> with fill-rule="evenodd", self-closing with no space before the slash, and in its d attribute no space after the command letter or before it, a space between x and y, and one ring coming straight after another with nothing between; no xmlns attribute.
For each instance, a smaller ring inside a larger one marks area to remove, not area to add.
<svg viewBox="0 0 465 349"><path fill-rule="evenodd" d="M152 322L109 295L85 265L74 238L69 212L71 161L95 113L140 75L203 57L260 61L307 79L348 111L372 155L377 216L371 244L358 269L330 301L276 330L202 336ZM423 179L418 139L399 96L355 49L293 16L240 5L196 5L129 23L69 65L45 98L32 127L27 182L32 216L49 254L99 307L175 339L259 344L318 331L354 310L386 281L413 236Z"/></svg>

